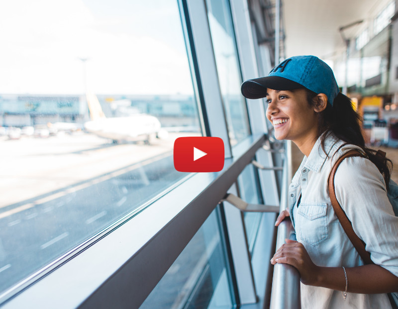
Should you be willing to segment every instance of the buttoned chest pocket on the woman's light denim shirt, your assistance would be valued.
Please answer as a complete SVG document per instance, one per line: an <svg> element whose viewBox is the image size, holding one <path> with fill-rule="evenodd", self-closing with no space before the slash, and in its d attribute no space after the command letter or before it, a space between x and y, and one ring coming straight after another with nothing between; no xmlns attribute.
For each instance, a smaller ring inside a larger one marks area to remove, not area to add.
<svg viewBox="0 0 398 309"><path fill-rule="evenodd" d="M296 233L299 241L316 246L328 238L327 204L310 203L298 206Z"/></svg>

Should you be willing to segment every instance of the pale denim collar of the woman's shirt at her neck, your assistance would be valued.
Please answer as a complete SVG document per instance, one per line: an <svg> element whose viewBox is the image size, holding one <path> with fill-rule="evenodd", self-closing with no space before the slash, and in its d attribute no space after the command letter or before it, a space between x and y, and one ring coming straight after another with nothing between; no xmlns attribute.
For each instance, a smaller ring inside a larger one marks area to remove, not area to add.
<svg viewBox="0 0 398 309"><path fill-rule="evenodd" d="M322 146L321 146L321 135L315 142L315 145L312 147L311 152L309 153L308 157L305 158L305 163L304 166L309 168L310 170L314 172L319 172L323 164L325 163L325 160L327 157L331 157L333 154L331 154L331 150L333 146L341 146L343 144L342 141L339 141L334 135L329 134L324 143L324 149L323 151ZM341 145L340 145L341 144Z"/></svg>

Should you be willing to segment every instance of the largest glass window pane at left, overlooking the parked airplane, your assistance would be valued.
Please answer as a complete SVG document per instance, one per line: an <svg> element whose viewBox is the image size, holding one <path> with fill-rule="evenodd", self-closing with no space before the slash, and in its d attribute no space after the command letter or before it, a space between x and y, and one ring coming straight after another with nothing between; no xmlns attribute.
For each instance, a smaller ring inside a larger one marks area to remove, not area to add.
<svg viewBox="0 0 398 309"><path fill-rule="evenodd" d="M201 133L177 1L2 1L0 25L2 292L187 176L173 143Z"/></svg>

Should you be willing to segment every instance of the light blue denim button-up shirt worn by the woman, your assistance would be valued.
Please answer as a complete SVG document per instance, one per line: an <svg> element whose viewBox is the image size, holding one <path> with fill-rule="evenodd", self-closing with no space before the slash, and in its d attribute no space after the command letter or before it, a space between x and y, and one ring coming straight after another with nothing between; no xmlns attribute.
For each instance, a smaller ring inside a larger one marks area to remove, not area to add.
<svg viewBox="0 0 398 309"><path fill-rule="evenodd" d="M297 240L319 266L364 264L334 213L327 187L336 160L351 149L359 149L354 145L339 149L343 144L328 137L324 145L326 155L319 138L308 157L304 156L289 188L289 211ZM398 276L398 217L377 167L367 158L344 159L335 175L335 189L337 200L356 234L365 241L372 260ZM344 276L343 269L341 275ZM348 293L344 301L340 291L303 284L300 288L302 308L391 308L387 294Z"/></svg>

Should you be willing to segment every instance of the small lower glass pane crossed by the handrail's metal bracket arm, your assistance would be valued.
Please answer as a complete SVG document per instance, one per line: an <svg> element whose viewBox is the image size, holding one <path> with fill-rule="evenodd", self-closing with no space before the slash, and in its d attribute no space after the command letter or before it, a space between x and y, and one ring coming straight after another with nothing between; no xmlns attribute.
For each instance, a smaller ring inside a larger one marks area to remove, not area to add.
<svg viewBox="0 0 398 309"><path fill-rule="evenodd" d="M262 204L257 172L252 164L245 167L238 177L241 198L249 204ZM261 213L245 212L244 222L249 249L252 251L257 237Z"/></svg>

